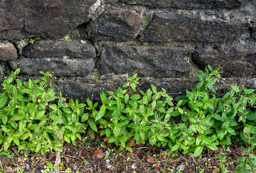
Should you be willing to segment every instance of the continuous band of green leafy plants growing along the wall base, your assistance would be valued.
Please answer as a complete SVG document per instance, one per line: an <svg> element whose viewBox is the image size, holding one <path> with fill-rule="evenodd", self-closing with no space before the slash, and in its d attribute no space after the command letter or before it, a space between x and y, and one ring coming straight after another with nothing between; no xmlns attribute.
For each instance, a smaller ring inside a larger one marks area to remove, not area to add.
<svg viewBox="0 0 256 173"><path fill-rule="evenodd" d="M147 91L140 90L135 74L116 92L103 89L99 109L98 102L93 104L91 99L86 105L61 93L58 97L50 72L40 72L42 79L24 83L17 78L17 69L2 83L0 143L4 150L16 145L19 150L44 154L61 151L64 142L75 145L81 140L80 133L89 132L93 138L99 132L109 143L131 152L132 140L137 144L149 141L169 146L173 156L182 151L197 157L204 147L218 150L218 145L225 147L239 137L251 152L256 145L256 112L252 112L256 94L243 85L231 85L230 91L218 98L213 84L221 77L219 69L220 65L206 67L199 72L199 83L192 91L175 99L153 84ZM248 158L240 160L243 163Z"/></svg>

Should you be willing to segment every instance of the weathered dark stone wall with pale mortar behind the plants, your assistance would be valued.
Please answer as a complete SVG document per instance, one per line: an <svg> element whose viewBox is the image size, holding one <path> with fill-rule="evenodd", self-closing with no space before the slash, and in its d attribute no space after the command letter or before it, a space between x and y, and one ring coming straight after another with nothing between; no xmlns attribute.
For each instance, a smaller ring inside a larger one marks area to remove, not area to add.
<svg viewBox="0 0 256 173"><path fill-rule="evenodd" d="M64 95L98 100L140 64L142 89L184 92L222 62L220 92L256 88L256 0L0 0L0 16L0 82L50 67Z"/></svg>

